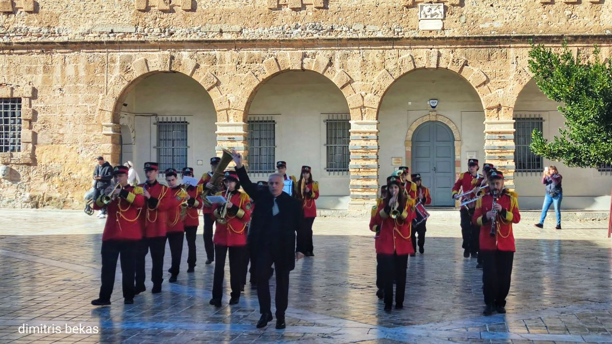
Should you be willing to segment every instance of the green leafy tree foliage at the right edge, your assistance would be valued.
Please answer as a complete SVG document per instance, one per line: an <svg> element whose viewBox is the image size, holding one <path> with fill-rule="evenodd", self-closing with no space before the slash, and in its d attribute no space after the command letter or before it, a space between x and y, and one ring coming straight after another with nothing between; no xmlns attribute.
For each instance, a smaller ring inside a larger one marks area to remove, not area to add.
<svg viewBox="0 0 612 344"><path fill-rule="evenodd" d="M529 69L537 86L555 102L565 117L566 129L546 140L542 132L532 133L531 151L568 166L597 167L612 163L612 64L601 61L594 49L592 61L581 63L563 44L562 53L531 43Z"/></svg>

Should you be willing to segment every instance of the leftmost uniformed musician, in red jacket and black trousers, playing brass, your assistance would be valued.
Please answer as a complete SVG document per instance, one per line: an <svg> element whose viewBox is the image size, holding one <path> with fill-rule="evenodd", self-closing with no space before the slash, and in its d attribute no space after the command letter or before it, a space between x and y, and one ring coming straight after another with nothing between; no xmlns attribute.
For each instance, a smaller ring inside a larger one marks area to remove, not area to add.
<svg viewBox="0 0 612 344"><path fill-rule="evenodd" d="M114 181L121 185L110 195L110 203L103 202L105 196L100 195L93 204L95 210L106 208L108 217L102 234L102 286L100 296L91 301L92 305L103 306L111 304L117 259L121 261L121 280L124 304L134 303L134 261L138 241L143 233L138 220L144 206L143 189L127 184L125 166L115 166ZM108 199L106 199L108 201Z"/></svg>

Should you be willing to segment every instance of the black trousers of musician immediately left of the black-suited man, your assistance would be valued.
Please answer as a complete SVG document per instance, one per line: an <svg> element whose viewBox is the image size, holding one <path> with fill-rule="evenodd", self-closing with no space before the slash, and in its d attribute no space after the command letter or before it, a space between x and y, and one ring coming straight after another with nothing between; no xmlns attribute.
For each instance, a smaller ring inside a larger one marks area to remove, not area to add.
<svg viewBox="0 0 612 344"><path fill-rule="evenodd" d="M215 274L212 280L212 298L223 297L223 276L225 275L225 257L230 252L230 288L231 297L240 297L242 281L244 280L244 255L247 253L246 246L224 246L215 245Z"/></svg>

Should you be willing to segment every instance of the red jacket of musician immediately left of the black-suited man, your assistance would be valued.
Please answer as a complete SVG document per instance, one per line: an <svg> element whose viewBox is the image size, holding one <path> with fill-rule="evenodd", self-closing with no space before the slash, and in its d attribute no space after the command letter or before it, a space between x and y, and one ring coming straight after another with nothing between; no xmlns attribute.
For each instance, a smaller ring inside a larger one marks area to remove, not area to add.
<svg viewBox="0 0 612 344"><path fill-rule="evenodd" d="M224 194L225 192L217 193L220 196ZM227 223L219 223L217 220L212 242L228 247L245 246L247 245L247 225L251 219L251 200L246 193L234 190L231 192L230 202L233 206L227 211L225 217ZM223 207L223 204L214 204L212 215L215 219L220 218Z"/></svg>

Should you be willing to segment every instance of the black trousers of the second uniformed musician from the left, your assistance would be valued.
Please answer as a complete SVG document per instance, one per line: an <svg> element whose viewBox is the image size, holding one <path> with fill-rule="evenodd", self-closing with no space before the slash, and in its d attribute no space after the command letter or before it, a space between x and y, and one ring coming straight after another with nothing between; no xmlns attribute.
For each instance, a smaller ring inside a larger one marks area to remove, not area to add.
<svg viewBox="0 0 612 344"><path fill-rule="evenodd" d="M136 289L144 288L144 257L151 251L151 282L161 285L163 282L163 255L166 251L166 237L146 237L139 242L140 249L136 257Z"/></svg>

